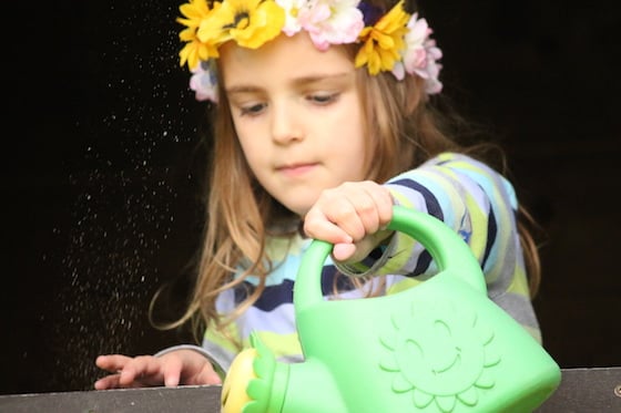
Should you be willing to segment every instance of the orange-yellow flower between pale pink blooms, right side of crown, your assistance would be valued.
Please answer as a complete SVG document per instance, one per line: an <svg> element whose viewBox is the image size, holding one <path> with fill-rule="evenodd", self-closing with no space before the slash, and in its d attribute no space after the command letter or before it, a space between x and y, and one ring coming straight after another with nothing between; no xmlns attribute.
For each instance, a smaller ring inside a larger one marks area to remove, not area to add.
<svg viewBox="0 0 621 413"><path fill-rule="evenodd" d="M395 62L401 59L408 19L409 14L404 10L401 0L374 27L364 28L358 37L364 44L356 54L356 68L368 64L368 71L373 75L393 70Z"/></svg>

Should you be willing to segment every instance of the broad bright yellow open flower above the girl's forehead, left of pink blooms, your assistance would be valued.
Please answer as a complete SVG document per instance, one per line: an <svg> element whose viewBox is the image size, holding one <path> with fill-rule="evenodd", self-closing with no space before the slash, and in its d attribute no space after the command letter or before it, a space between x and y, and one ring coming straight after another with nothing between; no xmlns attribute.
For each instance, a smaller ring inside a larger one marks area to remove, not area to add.
<svg viewBox="0 0 621 413"><path fill-rule="evenodd" d="M276 38L285 24L285 11L274 0L224 0L201 22L197 35L203 42L257 49Z"/></svg>

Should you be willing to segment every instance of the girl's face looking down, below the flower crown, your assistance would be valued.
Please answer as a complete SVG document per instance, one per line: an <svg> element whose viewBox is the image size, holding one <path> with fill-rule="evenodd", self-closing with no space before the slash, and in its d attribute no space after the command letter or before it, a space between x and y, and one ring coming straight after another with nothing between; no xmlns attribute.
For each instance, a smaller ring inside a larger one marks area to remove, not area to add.
<svg viewBox="0 0 621 413"><path fill-rule="evenodd" d="M244 156L274 198L304 217L322 190L365 178L363 109L344 49L320 52L301 32L220 51Z"/></svg>

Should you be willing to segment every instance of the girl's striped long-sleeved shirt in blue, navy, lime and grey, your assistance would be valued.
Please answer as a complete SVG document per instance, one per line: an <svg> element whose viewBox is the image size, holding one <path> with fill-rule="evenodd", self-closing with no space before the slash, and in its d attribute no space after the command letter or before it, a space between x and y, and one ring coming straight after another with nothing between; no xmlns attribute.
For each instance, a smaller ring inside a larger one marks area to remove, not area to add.
<svg viewBox="0 0 621 413"><path fill-rule="evenodd" d="M539 324L528 291L521 246L517 231L517 198L511 184L489 166L466 155L444 153L420 167L403 173L385 183L395 202L428 213L452 228L470 247L481 265L489 298L521 323L538 341ZM302 256L310 239L272 237L267 240L267 258L274 270L266 279L259 299L228 328L244 348L255 333L281 361L301 361L293 286ZM407 250L409 254L394 254ZM240 272L242 269L240 269ZM337 273L340 272L340 276ZM335 266L329 257L324 264L324 296L334 295L335 277L339 298L359 298L345 275L385 276L385 293L411 288L437 272L425 248L408 236L395 233L389 245L374 251L355 266ZM238 276L238 275L237 275ZM371 278L374 283L378 278ZM218 313L226 314L244 300L257 279L250 277L242 288L222 292L216 300ZM367 285L369 287L369 285ZM205 332L202 352L227 371L237 354L234 345L214 329Z"/></svg>

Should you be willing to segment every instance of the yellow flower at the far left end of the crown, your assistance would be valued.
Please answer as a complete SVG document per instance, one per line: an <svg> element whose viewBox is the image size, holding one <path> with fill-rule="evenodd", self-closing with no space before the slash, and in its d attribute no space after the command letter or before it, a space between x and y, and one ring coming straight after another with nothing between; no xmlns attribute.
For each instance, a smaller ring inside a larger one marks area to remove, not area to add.
<svg viewBox="0 0 621 413"><path fill-rule="evenodd" d="M196 35L201 22L212 12L206 0L190 0L189 3L180 6L179 10L185 19L177 18L176 21L186 27L179 33L181 41L186 42L179 52L180 64L183 66L187 63L187 68L192 70L198 65L201 60L217 58L217 45L202 42Z"/></svg>

